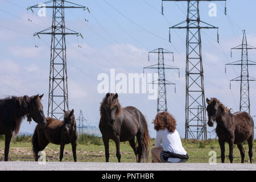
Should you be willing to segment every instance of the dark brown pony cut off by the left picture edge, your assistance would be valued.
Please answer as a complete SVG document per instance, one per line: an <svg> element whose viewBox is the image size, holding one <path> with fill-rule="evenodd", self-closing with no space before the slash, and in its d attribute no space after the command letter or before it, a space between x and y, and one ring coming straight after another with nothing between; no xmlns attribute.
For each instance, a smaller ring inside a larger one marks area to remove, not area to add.
<svg viewBox="0 0 256 182"><path fill-rule="evenodd" d="M39 124L40 127L46 126L46 117L44 116L43 105L40 100L42 96L32 97L7 97L0 99L0 135L5 135L5 161L8 160L10 142L13 135L19 133L22 119L31 118Z"/></svg>

